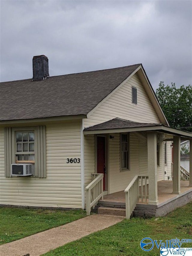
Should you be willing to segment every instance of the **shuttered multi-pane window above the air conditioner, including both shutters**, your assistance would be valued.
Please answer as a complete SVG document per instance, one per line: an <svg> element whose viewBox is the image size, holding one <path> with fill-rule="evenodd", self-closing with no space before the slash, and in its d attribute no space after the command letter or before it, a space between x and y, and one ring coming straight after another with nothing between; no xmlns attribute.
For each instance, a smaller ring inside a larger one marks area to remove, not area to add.
<svg viewBox="0 0 192 256"><path fill-rule="evenodd" d="M11 177L11 164L32 163L33 176L46 177L45 126L4 129L5 176Z"/></svg>

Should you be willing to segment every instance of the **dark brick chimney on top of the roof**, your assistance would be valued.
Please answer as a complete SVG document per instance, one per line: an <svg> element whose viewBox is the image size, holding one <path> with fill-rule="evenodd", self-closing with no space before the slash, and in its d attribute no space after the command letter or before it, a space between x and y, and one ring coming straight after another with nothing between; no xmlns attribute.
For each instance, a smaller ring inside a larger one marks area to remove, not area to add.
<svg viewBox="0 0 192 256"><path fill-rule="evenodd" d="M32 81L44 80L46 77L49 77L48 58L45 55L34 56Z"/></svg>

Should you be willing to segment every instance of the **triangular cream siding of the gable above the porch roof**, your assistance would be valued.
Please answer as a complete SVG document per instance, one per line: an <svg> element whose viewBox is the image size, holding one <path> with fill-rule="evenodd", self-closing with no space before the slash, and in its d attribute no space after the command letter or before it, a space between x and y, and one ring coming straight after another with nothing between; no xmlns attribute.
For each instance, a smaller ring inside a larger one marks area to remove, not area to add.
<svg viewBox="0 0 192 256"><path fill-rule="evenodd" d="M137 105L132 103L132 86L137 88ZM160 122L137 73L88 114L84 127L115 117L135 122Z"/></svg>

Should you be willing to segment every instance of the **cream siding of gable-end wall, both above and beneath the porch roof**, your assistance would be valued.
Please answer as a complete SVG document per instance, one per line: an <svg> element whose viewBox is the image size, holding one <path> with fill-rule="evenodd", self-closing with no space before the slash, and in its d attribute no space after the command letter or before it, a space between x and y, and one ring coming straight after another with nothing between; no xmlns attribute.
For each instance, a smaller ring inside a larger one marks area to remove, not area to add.
<svg viewBox="0 0 192 256"><path fill-rule="evenodd" d="M137 88L137 105L132 103L132 86ZM84 127L106 122L115 117L135 122L159 123L151 101L137 74L134 74L116 92L91 111L84 119ZM120 134L109 140L109 184L108 193L124 190L137 174L147 175L147 142L143 143L134 133L130 133L130 170L120 172ZM91 182L91 172L95 170L94 136L84 136L85 140L85 185ZM90 143L90 146L88 144ZM164 179L164 145L160 147L160 167L158 181Z"/></svg>

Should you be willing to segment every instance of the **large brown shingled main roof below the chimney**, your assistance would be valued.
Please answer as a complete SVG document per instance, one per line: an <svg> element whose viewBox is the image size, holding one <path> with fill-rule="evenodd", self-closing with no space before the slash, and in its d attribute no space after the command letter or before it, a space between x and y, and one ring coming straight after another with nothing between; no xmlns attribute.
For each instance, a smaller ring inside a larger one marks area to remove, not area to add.
<svg viewBox="0 0 192 256"><path fill-rule="evenodd" d="M3 82L0 120L87 115L140 65Z"/></svg>

